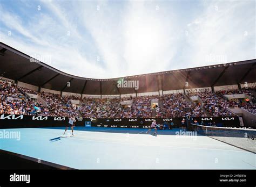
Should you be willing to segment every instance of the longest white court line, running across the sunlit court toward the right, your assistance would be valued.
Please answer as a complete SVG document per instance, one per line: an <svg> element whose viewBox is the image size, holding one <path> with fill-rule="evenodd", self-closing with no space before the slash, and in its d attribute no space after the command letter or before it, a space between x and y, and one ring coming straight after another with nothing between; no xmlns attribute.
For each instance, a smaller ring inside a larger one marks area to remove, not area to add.
<svg viewBox="0 0 256 187"><path fill-rule="evenodd" d="M125 145L132 145L132 146L151 146L151 147L172 147L172 148L186 148L186 149L207 149L207 150L224 150L226 152L240 152L240 153L251 153L251 152L246 152L246 151L241 151L241 150L227 150L227 149L212 149L212 148L200 148L200 147L177 147L177 146L159 146L159 145L145 145L145 144L131 144L131 143L125 143L125 142L110 142L110 141L100 141L100 140L90 140L90 139L80 139L80 138L74 138L72 136L72 139L77 139L77 140L84 140L84 141L96 141L96 142L104 142L104 143L119 143L119 144L125 144Z"/></svg>

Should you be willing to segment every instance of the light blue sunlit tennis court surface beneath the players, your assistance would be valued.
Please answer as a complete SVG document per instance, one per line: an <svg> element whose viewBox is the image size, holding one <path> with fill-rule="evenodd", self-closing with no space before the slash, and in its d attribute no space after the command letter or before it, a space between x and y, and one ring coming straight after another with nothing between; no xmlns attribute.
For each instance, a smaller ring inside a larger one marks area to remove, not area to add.
<svg viewBox="0 0 256 187"><path fill-rule="evenodd" d="M1 130L3 131L3 130ZM5 129L20 140L0 148L75 169L255 169L255 154L207 136L176 135L179 129L64 127Z"/></svg>

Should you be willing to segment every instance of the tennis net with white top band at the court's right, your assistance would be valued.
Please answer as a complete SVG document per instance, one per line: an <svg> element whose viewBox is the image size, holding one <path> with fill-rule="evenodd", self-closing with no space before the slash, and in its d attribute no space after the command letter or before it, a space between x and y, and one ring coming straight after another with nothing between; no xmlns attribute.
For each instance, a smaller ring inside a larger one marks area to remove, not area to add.
<svg viewBox="0 0 256 187"><path fill-rule="evenodd" d="M256 153L256 130L252 128L215 127L191 124L198 134Z"/></svg>

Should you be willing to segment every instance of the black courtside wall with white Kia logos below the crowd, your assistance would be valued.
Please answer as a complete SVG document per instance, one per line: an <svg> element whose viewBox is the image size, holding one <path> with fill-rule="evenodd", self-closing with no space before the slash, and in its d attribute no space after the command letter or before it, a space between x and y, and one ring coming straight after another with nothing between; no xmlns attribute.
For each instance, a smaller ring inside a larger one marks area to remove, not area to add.
<svg viewBox="0 0 256 187"><path fill-rule="evenodd" d="M149 128L154 118L76 118L76 126L120 127L120 128ZM240 127L239 117L196 117L199 124L215 122L216 126ZM2 114L0 128L39 128L64 127L68 124L67 117L25 116L16 114ZM157 124L173 122L173 128L181 127L181 120L186 118L156 118Z"/></svg>

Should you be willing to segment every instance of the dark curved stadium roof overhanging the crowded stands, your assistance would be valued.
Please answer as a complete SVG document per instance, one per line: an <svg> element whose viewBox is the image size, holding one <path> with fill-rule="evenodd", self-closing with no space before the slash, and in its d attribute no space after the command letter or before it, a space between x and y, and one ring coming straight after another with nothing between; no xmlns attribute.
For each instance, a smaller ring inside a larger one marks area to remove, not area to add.
<svg viewBox="0 0 256 187"><path fill-rule="evenodd" d="M119 95L256 82L256 59L110 79L78 77L40 61L30 62L30 59L29 55L0 42L0 75L57 91ZM139 81L139 89L118 88L120 78ZM70 87L67 86L68 82ZM185 87L186 82L188 87Z"/></svg>

